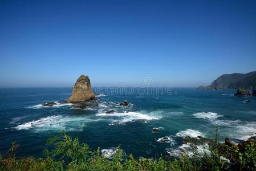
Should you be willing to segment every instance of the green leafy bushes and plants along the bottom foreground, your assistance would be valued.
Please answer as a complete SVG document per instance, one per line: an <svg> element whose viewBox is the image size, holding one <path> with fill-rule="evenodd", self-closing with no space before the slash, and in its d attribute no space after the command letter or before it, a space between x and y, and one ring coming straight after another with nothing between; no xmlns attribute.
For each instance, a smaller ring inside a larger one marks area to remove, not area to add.
<svg viewBox="0 0 256 171"><path fill-rule="evenodd" d="M100 148L92 151L87 144L80 144L78 138L72 139L66 133L51 137L47 141L50 149L43 150L44 158L17 157L17 143L0 156L0 170L256 170L256 138L238 146L218 143L216 128L215 145L210 154L193 156L186 153L173 161L163 158L152 160L132 155L125 157L117 148L117 153L109 160L100 153ZM223 158L228 160L224 160Z"/></svg>

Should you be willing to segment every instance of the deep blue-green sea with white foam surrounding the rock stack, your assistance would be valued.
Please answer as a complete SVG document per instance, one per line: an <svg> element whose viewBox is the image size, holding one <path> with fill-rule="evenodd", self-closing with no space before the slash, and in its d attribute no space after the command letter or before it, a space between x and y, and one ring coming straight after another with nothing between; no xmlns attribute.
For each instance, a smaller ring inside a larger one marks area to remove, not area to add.
<svg viewBox="0 0 256 171"><path fill-rule="evenodd" d="M171 93L162 94L102 90L97 95L97 107L40 105L66 100L71 92L72 87L0 89L0 153L17 141L21 144L19 156L42 156L48 137L59 135L62 129L91 149L120 145L136 158L172 155L181 148L185 136L214 139L214 125L218 126L220 141L225 137L245 140L256 133L256 97L233 96L234 89L173 88ZM125 99L131 106L119 105ZM105 113L110 109L115 113ZM152 133L153 128L160 132ZM165 136L168 141L161 142Z"/></svg>

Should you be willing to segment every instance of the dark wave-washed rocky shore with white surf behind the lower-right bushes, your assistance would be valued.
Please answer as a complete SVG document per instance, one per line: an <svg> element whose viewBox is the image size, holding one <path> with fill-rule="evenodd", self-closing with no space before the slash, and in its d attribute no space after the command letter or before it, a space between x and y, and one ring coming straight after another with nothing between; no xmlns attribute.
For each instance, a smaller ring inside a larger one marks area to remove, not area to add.
<svg viewBox="0 0 256 171"><path fill-rule="evenodd" d="M166 137L162 141L167 141ZM164 156L165 160L173 160L173 157L180 158L182 153L188 154L189 157L193 157L195 153L199 156L210 155L210 150L216 148L217 153L220 154L220 160L225 160L229 164L229 168L235 168L238 164L239 156L246 153L246 149L251 144L256 144L256 136L252 136L249 139L236 144L230 139L226 138L225 143L220 143L212 139L205 137L189 137L186 136L178 149L172 149L168 153L168 156ZM216 146L217 145L217 146ZM196 149L196 151L195 151Z"/></svg>

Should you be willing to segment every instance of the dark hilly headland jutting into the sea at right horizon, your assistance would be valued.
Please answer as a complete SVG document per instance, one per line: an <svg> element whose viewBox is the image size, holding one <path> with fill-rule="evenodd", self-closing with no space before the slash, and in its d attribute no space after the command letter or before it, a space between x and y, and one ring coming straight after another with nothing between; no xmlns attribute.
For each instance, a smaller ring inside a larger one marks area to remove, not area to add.
<svg viewBox="0 0 256 171"><path fill-rule="evenodd" d="M214 80L210 86L199 87L201 89L223 89L223 88L256 88L256 71L247 74L224 74Z"/></svg>

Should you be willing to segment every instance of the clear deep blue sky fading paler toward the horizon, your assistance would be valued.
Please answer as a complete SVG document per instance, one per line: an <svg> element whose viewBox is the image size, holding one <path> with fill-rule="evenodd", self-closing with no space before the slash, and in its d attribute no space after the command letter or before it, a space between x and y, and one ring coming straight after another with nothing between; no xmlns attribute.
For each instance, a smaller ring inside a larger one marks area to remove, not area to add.
<svg viewBox="0 0 256 171"><path fill-rule="evenodd" d="M256 1L0 1L0 87L196 87L256 70Z"/></svg>

